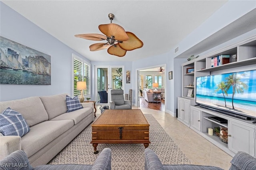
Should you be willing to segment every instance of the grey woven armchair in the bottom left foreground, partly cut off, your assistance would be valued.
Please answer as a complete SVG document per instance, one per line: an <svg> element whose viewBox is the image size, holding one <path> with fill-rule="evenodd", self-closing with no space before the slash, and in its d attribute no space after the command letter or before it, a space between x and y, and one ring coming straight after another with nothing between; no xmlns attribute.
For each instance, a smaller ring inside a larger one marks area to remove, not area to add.
<svg viewBox="0 0 256 170"><path fill-rule="evenodd" d="M59 164L59 165L39 165L33 168L26 153L23 150L12 152L3 160L0 160L1 170L111 170L111 150L103 149L94 164Z"/></svg>

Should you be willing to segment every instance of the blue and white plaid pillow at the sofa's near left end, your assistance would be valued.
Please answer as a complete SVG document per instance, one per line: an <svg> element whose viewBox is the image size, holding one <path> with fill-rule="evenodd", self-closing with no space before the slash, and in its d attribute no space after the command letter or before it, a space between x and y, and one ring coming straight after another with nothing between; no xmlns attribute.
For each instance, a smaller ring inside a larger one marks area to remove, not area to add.
<svg viewBox="0 0 256 170"><path fill-rule="evenodd" d="M22 137L30 131L28 123L22 114L8 107L0 114L0 132L4 136L20 136Z"/></svg>

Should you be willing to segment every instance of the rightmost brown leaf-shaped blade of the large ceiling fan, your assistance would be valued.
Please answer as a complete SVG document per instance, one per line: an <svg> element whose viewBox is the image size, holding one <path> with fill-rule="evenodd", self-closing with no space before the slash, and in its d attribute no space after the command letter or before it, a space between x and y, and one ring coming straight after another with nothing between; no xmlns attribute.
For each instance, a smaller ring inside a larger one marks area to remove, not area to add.
<svg viewBox="0 0 256 170"><path fill-rule="evenodd" d="M122 43L118 43L122 49L131 51L143 47L143 42L138 37L136 37L134 33L126 33L129 36L129 39L127 41L123 41Z"/></svg>

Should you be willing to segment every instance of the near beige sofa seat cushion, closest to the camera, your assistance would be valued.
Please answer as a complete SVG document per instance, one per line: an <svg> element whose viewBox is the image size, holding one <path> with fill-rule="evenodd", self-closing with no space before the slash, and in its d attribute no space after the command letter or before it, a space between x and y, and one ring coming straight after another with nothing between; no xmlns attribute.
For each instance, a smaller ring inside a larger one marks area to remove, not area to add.
<svg viewBox="0 0 256 170"><path fill-rule="evenodd" d="M72 120L44 121L30 127L30 132L21 138L21 149L28 157L45 147L74 125Z"/></svg>

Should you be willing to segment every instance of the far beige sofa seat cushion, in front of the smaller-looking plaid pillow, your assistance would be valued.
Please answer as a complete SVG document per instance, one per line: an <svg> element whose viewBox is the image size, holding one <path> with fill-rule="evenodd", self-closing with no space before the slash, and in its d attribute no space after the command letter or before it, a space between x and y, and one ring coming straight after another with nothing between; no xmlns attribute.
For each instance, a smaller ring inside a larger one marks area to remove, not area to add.
<svg viewBox="0 0 256 170"><path fill-rule="evenodd" d="M92 108L86 107L86 108L82 108L82 109L78 109L78 110L75 110L72 112L63 113L61 115L58 115L57 117L54 117L53 119L51 119L51 121L71 119L74 121L74 125L76 125L82 119L84 119L84 117L86 117L90 114L92 114Z"/></svg>

